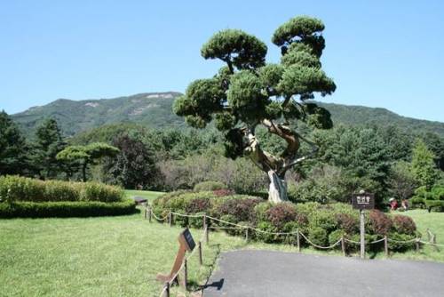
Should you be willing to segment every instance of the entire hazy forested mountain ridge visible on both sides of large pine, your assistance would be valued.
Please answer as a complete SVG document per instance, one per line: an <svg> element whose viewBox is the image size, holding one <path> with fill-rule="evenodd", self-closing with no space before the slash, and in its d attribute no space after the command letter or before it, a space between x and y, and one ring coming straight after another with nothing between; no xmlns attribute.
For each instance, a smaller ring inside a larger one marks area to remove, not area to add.
<svg viewBox="0 0 444 297"><path fill-rule="evenodd" d="M171 111L179 92L149 92L128 97L100 100L59 99L42 107L12 115L28 134L45 117L55 117L66 135L89 130L102 124L137 123L147 127L182 127L184 120ZM444 137L444 123L399 116L385 108L367 108L320 103L329 109L335 124L397 125L416 132L436 132Z"/></svg>

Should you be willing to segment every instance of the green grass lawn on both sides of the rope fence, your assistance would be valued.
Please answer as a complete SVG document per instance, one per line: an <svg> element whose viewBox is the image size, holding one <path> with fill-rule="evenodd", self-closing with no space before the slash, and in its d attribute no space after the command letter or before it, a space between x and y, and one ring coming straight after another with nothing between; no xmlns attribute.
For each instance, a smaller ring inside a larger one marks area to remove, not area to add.
<svg viewBox="0 0 444 297"><path fill-rule="evenodd" d="M154 198L158 193L127 191ZM444 244L444 213L409 211L418 229L430 228ZM178 227L149 224L143 214L101 218L0 220L0 296L158 296L158 272L167 273L178 249ZM191 229L194 239L202 230ZM203 245L204 265L197 253L189 261L194 288L204 284L218 253L233 249L272 249L296 252L294 246L250 243L223 232L210 233ZM337 254L304 249L304 253ZM382 253L377 258L384 257ZM421 253L393 258L444 261L444 251L425 247ZM174 290L178 290L177 287ZM175 292L177 293L177 292ZM173 294L175 295L175 294Z"/></svg>

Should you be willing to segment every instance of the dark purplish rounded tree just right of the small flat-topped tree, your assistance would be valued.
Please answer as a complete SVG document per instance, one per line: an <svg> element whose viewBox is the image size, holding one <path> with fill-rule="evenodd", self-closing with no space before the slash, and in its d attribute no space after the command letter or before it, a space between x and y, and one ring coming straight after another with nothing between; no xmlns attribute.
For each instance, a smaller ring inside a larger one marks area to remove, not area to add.
<svg viewBox="0 0 444 297"><path fill-rule="evenodd" d="M113 145L120 152L104 165L105 171L112 176L111 182L121 184L125 189L154 188L157 176L154 152L128 134L115 138Z"/></svg>

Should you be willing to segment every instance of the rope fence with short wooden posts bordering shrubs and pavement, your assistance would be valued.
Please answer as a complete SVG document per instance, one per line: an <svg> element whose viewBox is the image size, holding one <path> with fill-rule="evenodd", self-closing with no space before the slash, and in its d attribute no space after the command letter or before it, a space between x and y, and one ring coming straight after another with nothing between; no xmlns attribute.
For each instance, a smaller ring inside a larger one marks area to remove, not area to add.
<svg viewBox="0 0 444 297"><path fill-rule="evenodd" d="M200 258L200 263L202 265L202 242L205 243L209 243L209 233L210 233L210 229L213 230L225 230L225 229L244 229L246 231L245 234L245 239L246 241L249 241L249 231L255 231L258 233L262 233L262 234L268 234L268 235L274 235L274 236L295 236L297 238L297 250L298 252L301 251L301 245L300 245L300 237L304 238L305 242L309 245L312 245L318 249L322 249L322 250L329 250L332 248L337 247L337 245L341 245L341 249L343 254L346 256L346 247L345 247L345 243L348 244L353 244L353 245L360 245L361 242L359 241L355 241L346 237L340 237L337 242L335 242L332 245L328 245L328 246L322 246L322 245L316 245L314 244L308 237L305 236L304 233L302 233L301 231L299 231L299 229L297 229L297 231L294 232L270 232L270 231L266 231L266 230L262 230L262 229L256 229L253 228L251 226L248 225L240 225L240 224L236 224L234 222L230 222L230 221L223 221L220 220L218 218L214 218L211 217L209 215L206 214L186 214L186 213L175 213L175 212L169 212L168 214L166 214L163 218L160 218L158 216L155 215L155 213L153 212L153 209L147 205L146 209L145 209L145 219L149 220L151 222L151 216L153 216L155 218L155 220L157 221L167 221L170 224L170 227L172 226L172 221L173 221L173 216L180 216L180 217L187 217L187 218L202 218L203 220L203 235L201 237L201 239L199 240L199 245L197 250L199 250L199 258ZM219 223L228 225L229 227L223 227L223 226L208 226L208 221L218 221ZM385 255L389 256L389 245L388 243L393 243L393 244L399 244L399 245L407 245L407 244L416 244L416 252L419 251L419 244L423 244L423 245L432 245L436 251L440 251L439 247L444 247L444 245L441 244L437 244L436 243L436 235L433 234L429 229L427 229L427 233L428 233L428 241L424 241L422 237L416 237L416 238L412 238L409 240L395 240L392 238L389 238L387 236L374 240L374 241L366 241L366 245L374 245L374 244L378 244L381 242L384 242L385 244ZM178 277L178 274L180 271L182 271L183 269L186 268L186 261L191 258L194 255L196 249L194 249L186 258L185 261L182 263L182 266L180 267L180 269L178 269L178 272L173 276L172 280L170 282L165 283L165 285L163 286L163 291L160 294L160 297L163 297L164 294L166 293L167 297L170 297L170 286L172 285L172 283L176 280L176 278ZM186 270L186 269L185 269ZM186 279L186 277L185 277ZM185 281L186 283L186 281ZM186 286L186 284L185 284Z"/></svg>

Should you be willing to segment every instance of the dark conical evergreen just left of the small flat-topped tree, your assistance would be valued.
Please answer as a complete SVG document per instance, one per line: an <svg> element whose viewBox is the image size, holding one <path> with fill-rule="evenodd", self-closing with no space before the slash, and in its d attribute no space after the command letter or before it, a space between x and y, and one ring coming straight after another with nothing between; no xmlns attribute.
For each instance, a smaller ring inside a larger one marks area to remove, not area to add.
<svg viewBox="0 0 444 297"><path fill-rule="evenodd" d="M61 171L56 156L65 147L66 143L55 119L48 118L36 128L33 161L42 178L52 178Z"/></svg>

